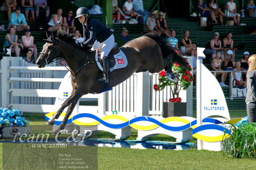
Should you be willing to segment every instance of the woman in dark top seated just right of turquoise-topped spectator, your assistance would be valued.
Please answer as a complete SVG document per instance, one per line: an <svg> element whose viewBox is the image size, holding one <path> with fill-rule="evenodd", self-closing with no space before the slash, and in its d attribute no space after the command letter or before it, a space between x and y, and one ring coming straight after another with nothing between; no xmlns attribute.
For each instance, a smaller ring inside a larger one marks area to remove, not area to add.
<svg viewBox="0 0 256 170"><path fill-rule="evenodd" d="M180 52L184 55L190 54L195 56L196 54L196 44L192 43L189 38L189 31L184 31L184 37L181 39L182 46L180 47Z"/></svg>

